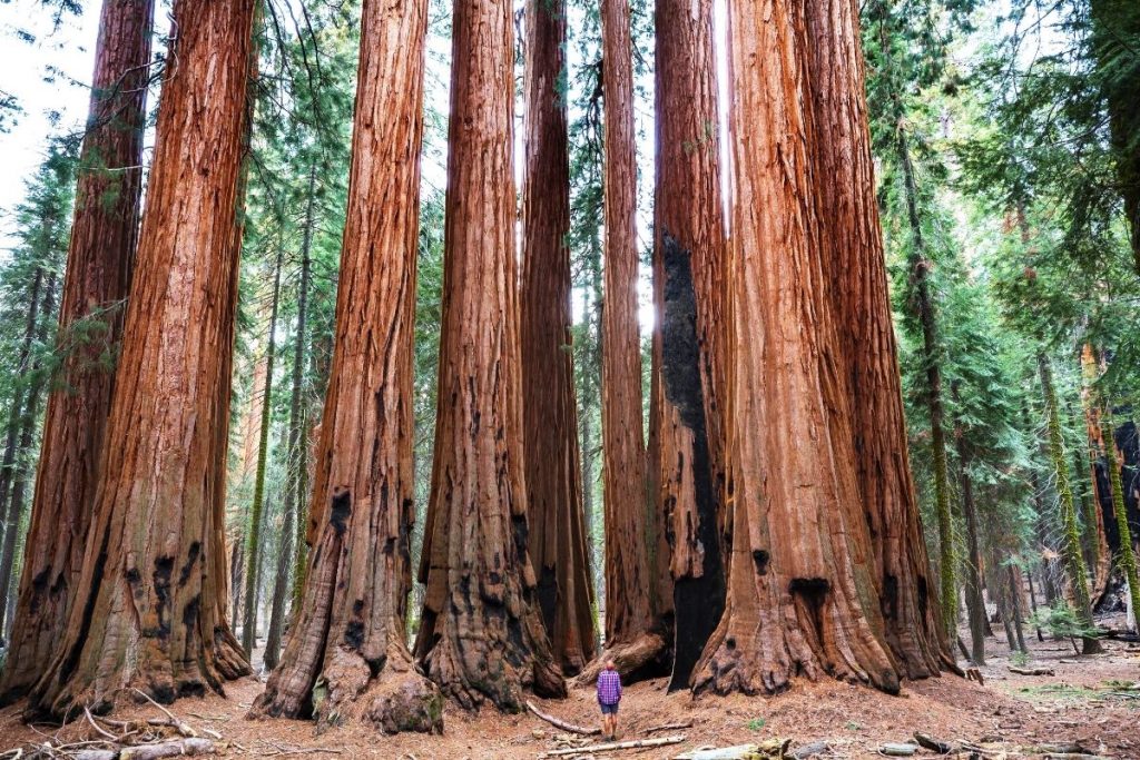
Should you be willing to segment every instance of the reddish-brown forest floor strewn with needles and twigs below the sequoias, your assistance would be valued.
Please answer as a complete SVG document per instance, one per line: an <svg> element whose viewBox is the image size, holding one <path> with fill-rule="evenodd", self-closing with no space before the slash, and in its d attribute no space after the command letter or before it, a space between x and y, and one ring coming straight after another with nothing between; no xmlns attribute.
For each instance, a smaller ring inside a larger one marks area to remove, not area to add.
<svg viewBox="0 0 1140 760"><path fill-rule="evenodd" d="M907 683L901 697L834 681L797 684L774 697L698 698L687 693L666 694L665 680L635 684L625 690L620 738L644 738L653 727L692 721L687 728L652 734L684 734L685 741L596 758L674 758L687 749L773 737L791 739L792 750L825 742L826 749L813 755L816 758L871 758L880 757L883 743L906 742L914 732L923 732L943 741L978 745L985 750L985 754L975 755L979 758L1041 757L1047 749L1042 745L1076 742L1104 757L1140 759L1140 690L1127 689L1140 681L1140 644L1108 640L1105 654L1084 657L1076 656L1068 641L1032 639L1026 667L1051 668L1054 676L1010 672L1004 638L991 638L986 641L988 661L980 669L984 686L944 676ZM562 736L560 729L532 714L504 716L491 710L467 714L450 706L442 736L383 736L359 724L317 736L307 721L246 720L245 711L261 690L256 679L230 684L226 690L227 698L188 698L172 708L180 719L223 736L219 757L498 760L537 758L565 746L556 741ZM589 726L596 720L592 689L575 689L561 702L536 702L544 712L573 724ZM161 713L140 705L116 717ZM42 742L43 735L36 732L52 735L56 729L25 726L19 705L0 711L0 750ZM68 732L75 738L92 733L84 721L65 727L60 735ZM915 757L923 755L935 757L926 750ZM595 755L583 752L581 757Z"/></svg>

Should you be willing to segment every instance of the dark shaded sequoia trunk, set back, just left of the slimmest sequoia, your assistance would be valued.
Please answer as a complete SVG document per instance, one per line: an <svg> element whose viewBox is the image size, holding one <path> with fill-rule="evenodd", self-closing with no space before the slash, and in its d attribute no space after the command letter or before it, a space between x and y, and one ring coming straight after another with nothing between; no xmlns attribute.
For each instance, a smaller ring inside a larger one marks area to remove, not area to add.
<svg viewBox="0 0 1140 760"><path fill-rule="evenodd" d="M522 187L522 411L530 559L563 672L594 656L594 585L583 523L570 337L570 158L565 2L527 3Z"/></svg>

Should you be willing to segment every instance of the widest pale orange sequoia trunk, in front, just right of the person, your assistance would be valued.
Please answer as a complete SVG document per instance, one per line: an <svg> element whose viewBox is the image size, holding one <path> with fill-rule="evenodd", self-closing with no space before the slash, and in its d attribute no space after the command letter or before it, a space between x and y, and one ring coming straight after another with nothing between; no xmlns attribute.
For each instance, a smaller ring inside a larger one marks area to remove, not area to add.
<svg viewBox="0 0 1140 760"><path fill-rule="evenodd" d="M733 547L697 692L824 673L898 690L860 505L852 412L813 202L798 3L734 2ZM834 410L833 414L829 409Z"/></svg>

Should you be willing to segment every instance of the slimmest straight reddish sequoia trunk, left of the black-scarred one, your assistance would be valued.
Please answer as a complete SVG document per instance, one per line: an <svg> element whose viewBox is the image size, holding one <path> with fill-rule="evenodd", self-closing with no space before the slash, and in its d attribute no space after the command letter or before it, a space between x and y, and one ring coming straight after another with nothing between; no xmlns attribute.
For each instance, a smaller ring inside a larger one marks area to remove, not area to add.
<svg viewBox="0 0 1140 760"><path fill-rule="evenodd" d="M637 324L637 164L628 0L602 0L605 303L602 309L602 450L605 647L634 675L665 640L654 629L642 357ZM586 672L596 676L596 668Z"/></svg>

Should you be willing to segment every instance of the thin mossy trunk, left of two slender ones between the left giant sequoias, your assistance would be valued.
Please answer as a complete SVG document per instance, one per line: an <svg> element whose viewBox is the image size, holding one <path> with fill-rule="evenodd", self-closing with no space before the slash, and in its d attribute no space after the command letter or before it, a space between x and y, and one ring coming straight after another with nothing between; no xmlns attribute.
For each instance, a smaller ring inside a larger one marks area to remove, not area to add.
<svg viewBox="0 0 1140 760"><path fill-rule="evenodd" d="M282 256L274 262L272 301L269 307L269 330L266 334L266 384L261 389L261 420L258 426L258 469L253 480L253 505L245 536L245 606L242 614L242 648L250 656L258 643L258 598L261 580L261 517L266 498L266 467L269 464L269 426L274 409L274 363L277 346L277 307L282 292ZM253 390L256 393L256 389Z"/></svg>

